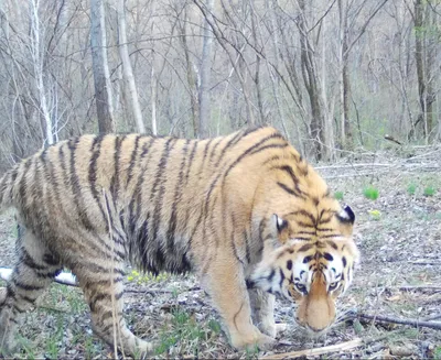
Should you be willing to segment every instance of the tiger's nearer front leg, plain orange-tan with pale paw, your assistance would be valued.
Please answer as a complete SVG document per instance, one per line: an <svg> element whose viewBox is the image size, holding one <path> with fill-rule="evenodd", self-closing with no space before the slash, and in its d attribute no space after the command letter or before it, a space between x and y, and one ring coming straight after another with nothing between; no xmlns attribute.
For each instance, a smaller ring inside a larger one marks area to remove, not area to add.
<svg viewBox="0 0 441 360"><path fill-rule="evenodd" d="M275 339L252 324L244 269L234 254L218 252L202 277L235 348L265 349L273 345Z"/></svg>

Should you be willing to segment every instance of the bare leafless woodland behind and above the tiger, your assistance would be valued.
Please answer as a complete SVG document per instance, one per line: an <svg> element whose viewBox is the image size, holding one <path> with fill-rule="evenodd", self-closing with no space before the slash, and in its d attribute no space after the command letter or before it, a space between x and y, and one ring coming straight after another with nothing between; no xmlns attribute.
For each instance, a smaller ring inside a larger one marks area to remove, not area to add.
<svg viewBox="0 0 441 360"><path fill-rule="evenodd" d="M0 170L90 132L439 142L440 39L439 0L0 0Z"/></svg>

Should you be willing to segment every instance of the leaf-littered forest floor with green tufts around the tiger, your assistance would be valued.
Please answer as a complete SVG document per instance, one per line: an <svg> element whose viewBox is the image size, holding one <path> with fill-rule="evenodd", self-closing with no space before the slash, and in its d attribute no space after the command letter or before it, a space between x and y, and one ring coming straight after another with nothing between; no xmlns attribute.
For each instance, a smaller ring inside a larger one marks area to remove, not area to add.
<svg viewBox="0 0 441 360"><path fill-rule="evenodd" d="M277 321L288 329L275 348L236 351L192 275L152 279L128 270L126 318L138 336L158 342L157 358L282 359L291 351L333 345L338 350L346 345L349 349L322 356L310 350L304 358L441 359L441 330L394 323L441 325L441 149L365 153L318 168L357 216L355 241L362 262L352 287L338 299L341 314L346 314L343 320L320 339L303 338L292 321L292 306L278 299ZM377 199L366 197L375 197L376 190ZM14 228L11 214L0 218L0 266L12 265ZM378 321L381 316L391 319ZM22 323L14 358L114 357L112 349L92 334L77 287L53 284Z"/></svg>

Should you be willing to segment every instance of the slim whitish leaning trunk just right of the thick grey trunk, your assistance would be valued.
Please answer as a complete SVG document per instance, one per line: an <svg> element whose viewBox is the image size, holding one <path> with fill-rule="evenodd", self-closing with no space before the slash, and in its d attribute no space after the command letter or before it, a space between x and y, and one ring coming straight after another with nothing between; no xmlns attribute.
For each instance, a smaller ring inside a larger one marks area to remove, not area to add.
<svg viewBox="0 0 441 360"><path fill-rule="evenodd" d="M126 26L126 0L118 0L118 42L119 42L119 55L122 62L122 74L125 79L125 86L128 86L128 95L132 106L133 118L137 123L138 132L146 133L146 127L142 121L141 106L139 105L137 85L135 84L133 69L129 57L129 51L127 46L127 26Z"/></svg>

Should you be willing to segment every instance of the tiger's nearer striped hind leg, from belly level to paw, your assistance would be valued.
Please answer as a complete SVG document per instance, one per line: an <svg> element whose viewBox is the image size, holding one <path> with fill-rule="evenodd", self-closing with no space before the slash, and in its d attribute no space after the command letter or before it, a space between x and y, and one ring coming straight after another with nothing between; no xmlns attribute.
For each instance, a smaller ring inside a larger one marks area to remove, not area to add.
<svg viewBox="0 0 441 360"><path fill-rule="evenodd" d="M151 352L152 343L135 336L122 316L122 263L104 264L90 270L79 263L73 269L89 305L95 334L111 346L116 342L126 354L139 357Z"/></svg>

